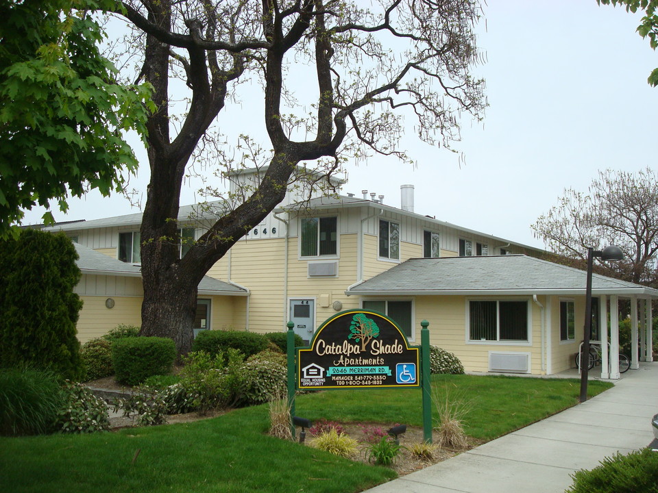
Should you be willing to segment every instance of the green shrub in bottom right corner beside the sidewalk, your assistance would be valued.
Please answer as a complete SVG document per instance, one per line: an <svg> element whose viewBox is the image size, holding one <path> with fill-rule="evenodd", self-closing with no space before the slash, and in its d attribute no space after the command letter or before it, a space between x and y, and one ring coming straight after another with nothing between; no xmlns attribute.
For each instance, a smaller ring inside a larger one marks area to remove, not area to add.
<svg viewBox="0 0 658 493"><path fill-rule="evenodd" d="M658 452L650 448L629 455L617 453L600 464L575 472L574 483L565 493L658 492Z"/></svg>

